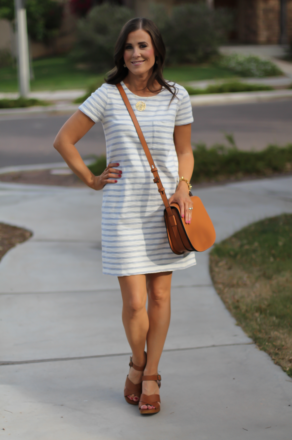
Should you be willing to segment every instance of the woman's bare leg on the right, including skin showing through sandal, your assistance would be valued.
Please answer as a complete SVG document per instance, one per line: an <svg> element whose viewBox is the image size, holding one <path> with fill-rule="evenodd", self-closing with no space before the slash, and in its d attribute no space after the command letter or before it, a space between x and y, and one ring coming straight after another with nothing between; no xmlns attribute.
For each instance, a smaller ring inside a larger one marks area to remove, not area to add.
<svg viewBox="0 0 292 440"><path fill-rule="evenodd" d="M170 322L170 290L172 272L160 272L146 275L148 294L149 330L147 333L147 365L145 376L157 374L158 363L164 347L165 338ZM145 381L142 393L150 396L159 394L156 381ZM141 409L154 409L151 405L142 405Z"/></svg>

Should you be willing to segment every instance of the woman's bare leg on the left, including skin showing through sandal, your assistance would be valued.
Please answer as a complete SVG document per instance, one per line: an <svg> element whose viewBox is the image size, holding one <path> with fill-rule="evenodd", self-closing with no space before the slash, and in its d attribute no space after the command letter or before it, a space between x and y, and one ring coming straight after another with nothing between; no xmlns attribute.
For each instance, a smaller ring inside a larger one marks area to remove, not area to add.
<svg viewBox="0 0 292 440"><path fill-rule="evenodd" d="M142 367L145 365L144 350L149 320L146 312L146 276L129 275L118 277L123 298L122 320L128 342L133 353L133 363ZM130 368L129 379L134 384L141 382L143 372ZM128 396L135 402L139 397Z"/></svg>

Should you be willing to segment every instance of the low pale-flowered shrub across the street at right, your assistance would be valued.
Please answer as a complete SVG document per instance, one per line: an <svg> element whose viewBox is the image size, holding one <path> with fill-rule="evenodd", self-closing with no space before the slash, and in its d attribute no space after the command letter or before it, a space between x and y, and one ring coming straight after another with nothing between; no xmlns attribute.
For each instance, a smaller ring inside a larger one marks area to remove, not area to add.
<svg viewBox="0 0 292 440"><path fill-rule="evenodd" d="M219 66L230 69L241 77L272 77L283 74L276 64L255 55L225 55L219 60Z"/></svg>

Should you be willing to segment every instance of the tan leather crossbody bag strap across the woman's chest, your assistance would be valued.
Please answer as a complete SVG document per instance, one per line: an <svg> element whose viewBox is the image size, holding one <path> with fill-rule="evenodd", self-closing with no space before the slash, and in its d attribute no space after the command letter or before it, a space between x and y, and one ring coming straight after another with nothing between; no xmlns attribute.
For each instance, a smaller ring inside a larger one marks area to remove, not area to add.
<svg viewBox="0 0 292 440"><path fill-rule="evenodd" d="M139 122L137 121L137 118L135 116L134 110L132 109L132 106L129 103L128 97L126 95L126 92L124 91L124 88L123 88L122 84L119 83L119 84L116 84L116 86L117 86L117 88L118 88L118 90L120 92L121 97L123 98L125 106L127 107L127 110L129 112L129 114L131 116L131 119L133 121L133 124L134 124L134 126L136 128L136 132L137 132L137 134L139 136L141 145L142 145L143 150L144 150L144 152L146 154L146 158L147 158L147 160L149 162L150 169L151 169L151 172L152 172L153 177L154 177L153 182L157 184L158 192L161 195L162 202L164 203L166 212L168 213L170 224L172 226L176 226L175 216L173 215L172 209L171 209L171 207L170 207L170 205L168 203L168 198L166 197L164 187L163 187L163 185L161 183L160 177L159 177L158 172L157 172L157 168L156 168L156 166L154 164L153 158L151 156L150 150L148 148L148 145L146 143L146 140L145 140L144 135L142 133L142 130L140 128Z"/></svg>

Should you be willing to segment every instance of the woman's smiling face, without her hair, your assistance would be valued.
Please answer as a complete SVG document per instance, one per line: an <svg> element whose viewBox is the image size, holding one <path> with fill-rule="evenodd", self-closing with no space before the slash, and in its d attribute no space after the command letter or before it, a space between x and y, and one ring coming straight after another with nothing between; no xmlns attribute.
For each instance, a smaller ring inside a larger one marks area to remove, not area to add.
<svg viewBox="0 0 292 440"><path fill-rule="evenodd" d="M134 75L148 73L155 63L155 48L148 32L143 29L128 34L124 62Z"/></svg>

